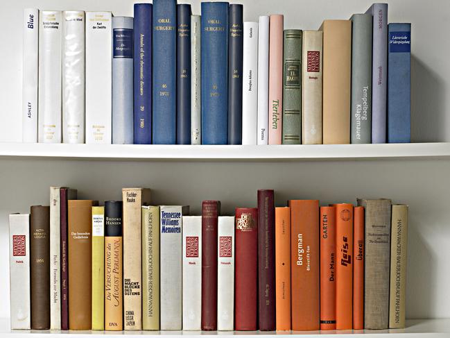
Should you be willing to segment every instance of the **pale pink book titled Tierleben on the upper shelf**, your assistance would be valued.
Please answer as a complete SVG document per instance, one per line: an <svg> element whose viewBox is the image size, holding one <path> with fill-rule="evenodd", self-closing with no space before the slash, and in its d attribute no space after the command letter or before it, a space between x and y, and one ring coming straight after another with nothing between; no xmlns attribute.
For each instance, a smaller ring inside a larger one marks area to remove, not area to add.
<svg viewBox="0 0 450 338"><path fill-rule="evenodd" d="M269 144L282 144L283 15L270 15Z"/></svg>

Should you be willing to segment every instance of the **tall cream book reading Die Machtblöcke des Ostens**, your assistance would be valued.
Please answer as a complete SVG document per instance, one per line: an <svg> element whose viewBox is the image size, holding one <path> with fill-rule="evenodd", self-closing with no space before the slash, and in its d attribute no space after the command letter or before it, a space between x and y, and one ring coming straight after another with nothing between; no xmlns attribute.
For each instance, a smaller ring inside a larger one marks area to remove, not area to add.
<svg viewBox="0 0 450 338"><path fill-rule="evenodd" d="M125 330L142 330L142 205L150 189L123 188L123 315Z"/></svg>

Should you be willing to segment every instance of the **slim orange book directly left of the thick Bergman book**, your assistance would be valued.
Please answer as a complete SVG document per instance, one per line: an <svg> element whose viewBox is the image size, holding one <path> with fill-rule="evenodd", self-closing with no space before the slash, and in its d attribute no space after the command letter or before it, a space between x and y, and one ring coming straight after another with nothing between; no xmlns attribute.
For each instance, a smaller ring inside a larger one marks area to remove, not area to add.
<svg viewBox="0 0 450 338"><path fill-rule="evenodd" d="M277 331L291 330L291 208L275 208Z"/></svg>

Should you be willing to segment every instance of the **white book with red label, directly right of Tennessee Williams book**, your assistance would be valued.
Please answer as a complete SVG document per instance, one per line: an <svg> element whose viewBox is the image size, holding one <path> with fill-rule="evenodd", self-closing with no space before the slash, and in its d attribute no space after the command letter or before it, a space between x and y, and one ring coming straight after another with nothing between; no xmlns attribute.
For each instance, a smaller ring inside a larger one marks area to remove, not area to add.
<svg viewBox="0 0 450 338"><path fill-rule="evenodd" d="M202 330L202 217L183 216L183 330Z"/></svg>

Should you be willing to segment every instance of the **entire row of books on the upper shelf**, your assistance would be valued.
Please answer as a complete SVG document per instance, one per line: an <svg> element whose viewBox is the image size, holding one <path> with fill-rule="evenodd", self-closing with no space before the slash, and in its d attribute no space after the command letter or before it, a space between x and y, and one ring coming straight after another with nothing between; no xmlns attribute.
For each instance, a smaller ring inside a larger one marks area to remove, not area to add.
<svg viewBox="0 0 450 338"><path fill-rule="evenodd" d="M26 9L22 116L24 142L410 142L410 24L386 3L318 31L226 2Z"/></svg>

